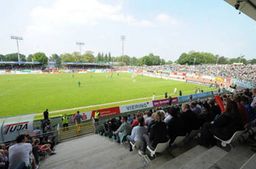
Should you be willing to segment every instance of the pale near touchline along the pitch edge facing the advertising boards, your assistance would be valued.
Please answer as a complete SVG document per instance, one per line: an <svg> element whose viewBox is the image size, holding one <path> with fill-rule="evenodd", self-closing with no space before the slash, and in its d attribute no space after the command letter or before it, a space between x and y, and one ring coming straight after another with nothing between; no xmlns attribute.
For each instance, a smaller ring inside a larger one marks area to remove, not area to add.
<svg viewBox="0 0 256 169"><path fill-rule="evenodd" d="M208 88L204 88L203 90L207 90ZM193 92L194 90L190 90L190 91L185 91L183 93L190 93ZM174 93L171 93L171 95ZM158 95L155 97L163 97L165 95ZM112 105L112 104L121 104L121 103L126 103L126 102L130 102L130 101L135 101L135 100L145 100L145 99L150 99L152 97L143 97L143 98L137 98L137 99L132 99L132 100L123 100L123 101L117 101L117 102L112 102L112 103L107 103L107 104L97 104L97 105L91 105L91 106L86 106L86 107L74 107L74 108L69 108L69 109L64 109L64 110L59 110L59 111L50 111L49 114L55 114L55 113L60 113L60 112L66 112L66 111L76 111L76 110L80 110L80 109L84 109L84 108L92 108L92 107L100 107L100 106L107 106L107 105ZM38 115L42 115L44 113L38 113L36 114L36 116Z"/></svg>

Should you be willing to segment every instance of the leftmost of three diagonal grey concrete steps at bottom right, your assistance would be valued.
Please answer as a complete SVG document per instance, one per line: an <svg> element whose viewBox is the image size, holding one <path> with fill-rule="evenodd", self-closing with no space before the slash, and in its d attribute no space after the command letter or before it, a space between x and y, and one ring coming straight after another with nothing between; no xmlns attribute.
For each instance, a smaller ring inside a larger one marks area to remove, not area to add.
<svg viewBox="0 0 256 169"><path fill-rule="evenodd" d="M180 168L184 164L187 164L190 162L190 160L193 160L195 157L198 157L201 155L201 153L204 153L208 149L203 146L194 146L194 148L187 150L187 152L181 154L180 156L169 160L165 164L160 165L159 167L156 167L158 169L169 169L169 168ZM172 151L174 153L174 150Z"/></svg>

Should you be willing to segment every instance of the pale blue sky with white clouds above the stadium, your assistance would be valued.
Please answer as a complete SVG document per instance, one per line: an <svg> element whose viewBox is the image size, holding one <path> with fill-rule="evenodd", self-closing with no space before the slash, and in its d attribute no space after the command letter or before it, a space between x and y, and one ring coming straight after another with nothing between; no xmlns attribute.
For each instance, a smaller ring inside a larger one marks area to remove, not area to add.
<svg viewBox="0 0 256 169"><path fill-rule="evenodd" d="M0 0L0 54L149 53L175 61L183 52L256 58L256 22L223 0Z"/></svg>

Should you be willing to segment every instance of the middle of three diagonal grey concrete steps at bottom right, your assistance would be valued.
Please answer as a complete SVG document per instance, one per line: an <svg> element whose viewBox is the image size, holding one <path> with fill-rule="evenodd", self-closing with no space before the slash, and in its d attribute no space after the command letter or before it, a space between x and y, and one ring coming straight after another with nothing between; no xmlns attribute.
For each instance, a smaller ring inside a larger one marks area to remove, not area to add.
<svg viewBox="0 0 256 169"><path fill-rule="evenodd" d="M190 160L187 164L180 167L181 169L197 169L197 168L208 168L211 167L212 164L215 164L222 157L226 156L228 152L222 150L218 146L213 146L211 149L201 153L201 155L194 158L194 160Z"/></svg>

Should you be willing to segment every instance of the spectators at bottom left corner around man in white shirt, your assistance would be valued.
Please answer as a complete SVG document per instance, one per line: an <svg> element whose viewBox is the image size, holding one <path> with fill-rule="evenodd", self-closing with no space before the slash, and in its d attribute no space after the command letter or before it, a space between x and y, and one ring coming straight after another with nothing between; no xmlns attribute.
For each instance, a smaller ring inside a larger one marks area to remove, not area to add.
<svg viewBox="0 0 256 169"><path fill-rule="evenodd" d="M55 138L20 135L16 143L0 144L0 169L37 169L46 153L55 155Z"/></svg>

